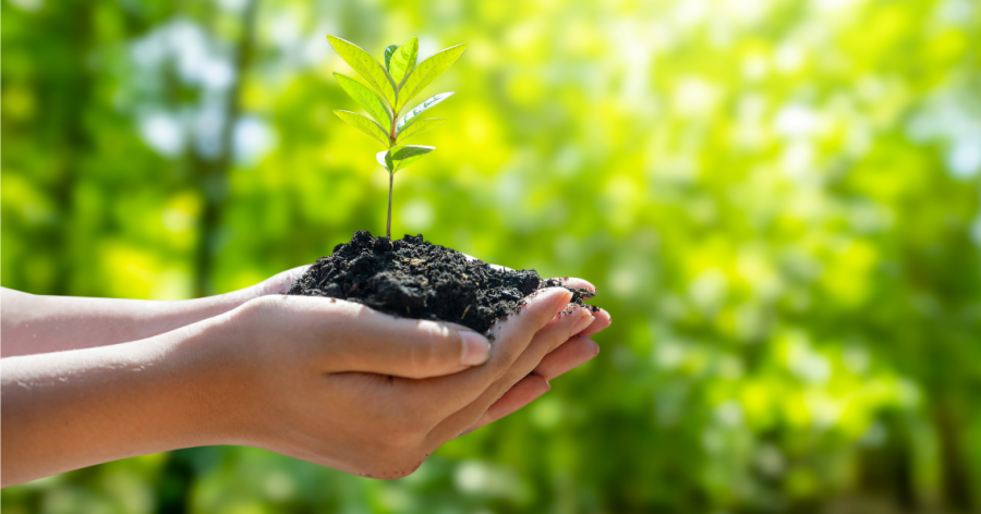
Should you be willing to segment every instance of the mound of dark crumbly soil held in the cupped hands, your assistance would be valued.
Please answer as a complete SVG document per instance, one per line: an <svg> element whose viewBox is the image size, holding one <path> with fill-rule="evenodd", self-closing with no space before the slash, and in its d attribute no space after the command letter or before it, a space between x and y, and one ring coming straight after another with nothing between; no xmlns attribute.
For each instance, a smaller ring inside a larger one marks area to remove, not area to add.
<svg viewBox="0 0 981 514"><path fill-rule="evenodd" d="M535 270L502 270L423 240L354 233L348 244L320 257L288 294L328 296L364 304L375 310L416 319L439 319L485 333L500 318L517 313L541 287L565 286L542 280ZM584 305L593 293L572 291ZM596 311L596 307L585 306Z"/></svg>

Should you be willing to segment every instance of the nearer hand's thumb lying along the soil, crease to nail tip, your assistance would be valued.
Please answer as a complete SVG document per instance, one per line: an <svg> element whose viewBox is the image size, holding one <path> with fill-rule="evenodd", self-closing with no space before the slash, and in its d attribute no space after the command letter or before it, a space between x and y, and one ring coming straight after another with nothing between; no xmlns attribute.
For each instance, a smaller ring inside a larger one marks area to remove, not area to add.
<svg viewBox="0 0 981 514"><path fill-rule="evenodd" d="M380 318L380 319L378 319ZM378 315L364 323L358 341L346 345L338 371L428 378L487 362L487 338L456 323Z"/></svg>

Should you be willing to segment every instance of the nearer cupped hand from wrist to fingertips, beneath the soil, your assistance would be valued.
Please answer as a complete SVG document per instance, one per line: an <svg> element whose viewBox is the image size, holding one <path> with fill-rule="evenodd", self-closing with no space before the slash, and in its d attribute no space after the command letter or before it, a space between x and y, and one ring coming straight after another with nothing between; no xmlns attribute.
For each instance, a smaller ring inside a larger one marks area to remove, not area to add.
<svg viewBox="0 0 981 514"><path fill-rule="evenodd" d="M447 440L507 414L520 402L502 396L536 368L543 381L564 372L569 356L553 351L595 323L579 307L556 316L570 298L560 287L537 292L492 328L488 345L464 327L354 303L259 297L221 325L229 347L211 354L211 426L225 443L405 476ZM525 389L509 394L521 400Z"/></svg>

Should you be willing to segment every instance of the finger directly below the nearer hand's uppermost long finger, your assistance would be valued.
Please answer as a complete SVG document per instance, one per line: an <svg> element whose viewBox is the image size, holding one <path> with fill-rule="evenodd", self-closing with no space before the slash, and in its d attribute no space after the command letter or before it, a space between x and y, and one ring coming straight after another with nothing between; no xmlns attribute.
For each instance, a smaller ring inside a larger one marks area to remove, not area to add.
<svg viewBox="0 0 981 514"><path fill-rule="evenodd" d="M561 317L535 334L524 353L514 364L484 392L465 407L457 411L429 432L432 441L446 441L459 436L472 426L494 402L500 399L508 389L532 371L542 358L552 350L590 322L586 309L578 307L569 316Z"/></svg>

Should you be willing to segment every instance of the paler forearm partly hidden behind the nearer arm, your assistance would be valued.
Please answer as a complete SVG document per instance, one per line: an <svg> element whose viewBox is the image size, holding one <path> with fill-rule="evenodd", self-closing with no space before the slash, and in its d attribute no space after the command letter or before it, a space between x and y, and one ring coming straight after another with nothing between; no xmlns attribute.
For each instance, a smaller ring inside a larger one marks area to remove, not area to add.
<svg viewBox="0 0 981 514"><path fill-rule="evenodd" d="M137 341L234 309L255 296L243 290L175 302L37 296L2 290L3 357Z"/></svg>

